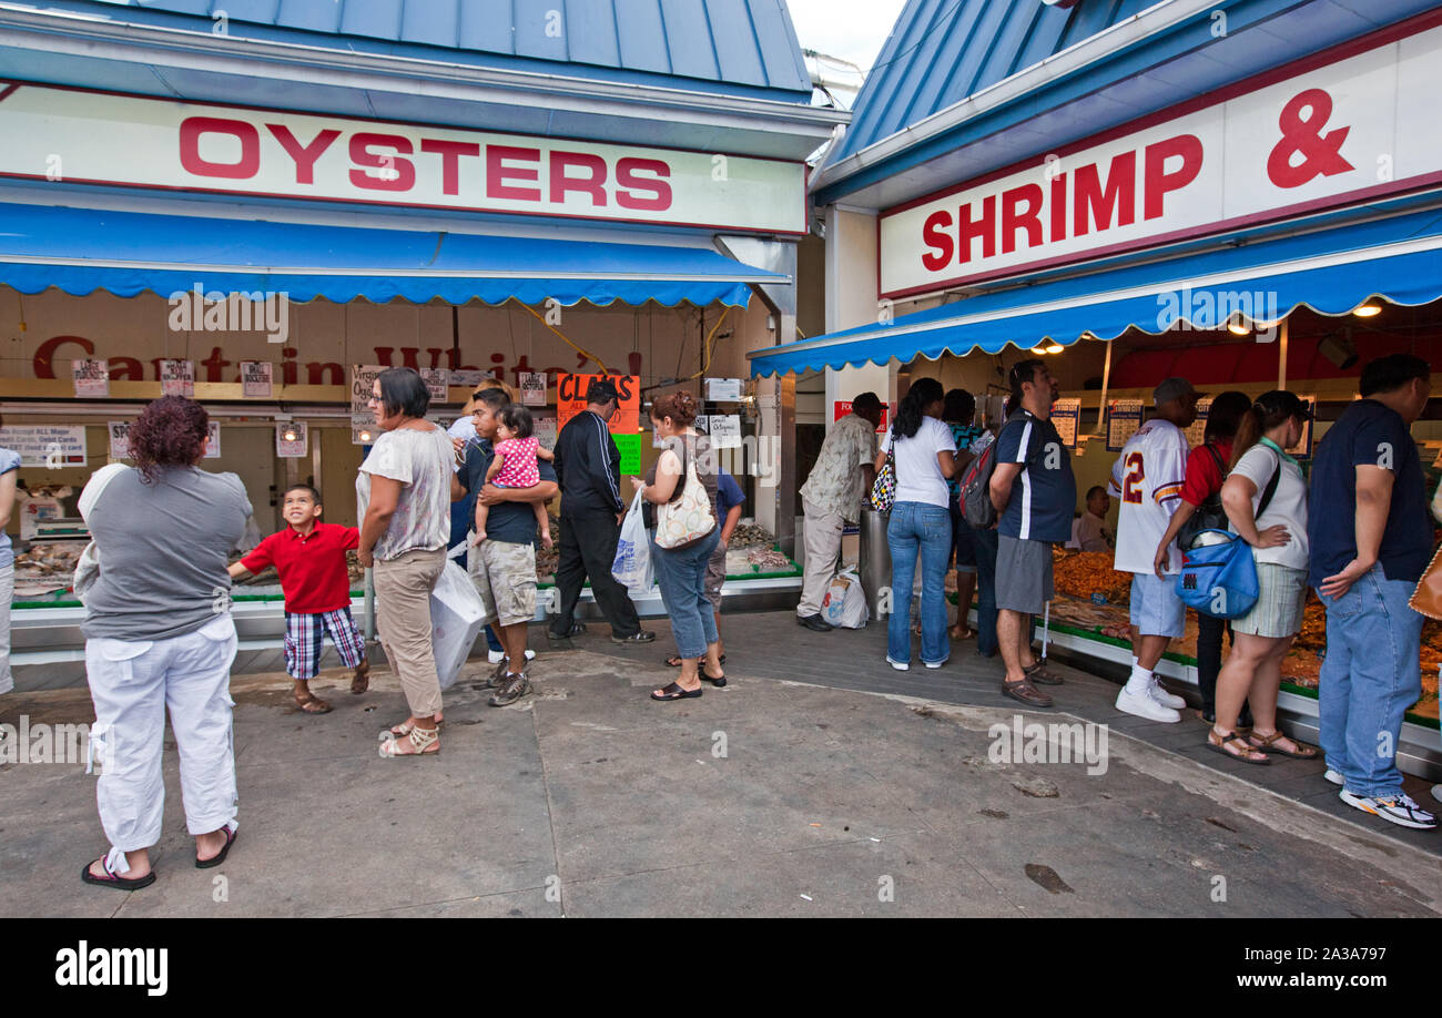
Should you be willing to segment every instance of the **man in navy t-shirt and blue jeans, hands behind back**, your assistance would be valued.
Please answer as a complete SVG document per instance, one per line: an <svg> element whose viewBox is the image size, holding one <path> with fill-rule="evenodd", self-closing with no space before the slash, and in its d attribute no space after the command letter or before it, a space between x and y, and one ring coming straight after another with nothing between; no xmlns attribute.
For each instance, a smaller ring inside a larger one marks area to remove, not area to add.
<svg viewBox="0 0 1442 1018"><path fill-rule="evenodd" d="M1422 616L1407 601L1432 557L1432 523L1410 425L1432 368L1409 353L1379 358L1360 392L1312 460L1309 578L1327 606L1319 741L1343 802L1426 831L1436 818L1402 790L1396 757L1422 694Z"/></svg>

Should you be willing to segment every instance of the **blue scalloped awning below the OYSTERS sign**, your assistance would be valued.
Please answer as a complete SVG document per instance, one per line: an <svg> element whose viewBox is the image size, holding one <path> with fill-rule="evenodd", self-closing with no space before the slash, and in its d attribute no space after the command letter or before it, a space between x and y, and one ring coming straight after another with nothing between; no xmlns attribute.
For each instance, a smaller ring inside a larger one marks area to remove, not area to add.
<svg viewBox="0 0 1442 1018"><path fill-rule="evenodd" d="M744 307L753 283L790 283L707 248L322 226L0 203L0 284L134 297L286 293L348 303Z"/></svg>

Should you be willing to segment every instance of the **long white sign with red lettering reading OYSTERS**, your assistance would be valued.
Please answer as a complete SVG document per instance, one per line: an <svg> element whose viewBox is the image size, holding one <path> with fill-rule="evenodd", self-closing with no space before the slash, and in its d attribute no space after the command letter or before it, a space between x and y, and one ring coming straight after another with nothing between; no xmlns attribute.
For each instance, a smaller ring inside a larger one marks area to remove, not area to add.
<svg viewBox="0 0 1442 1018"><path fill-rule="evenodd" d="M806 232L806 164L0 81L0 176Z"/></svg>

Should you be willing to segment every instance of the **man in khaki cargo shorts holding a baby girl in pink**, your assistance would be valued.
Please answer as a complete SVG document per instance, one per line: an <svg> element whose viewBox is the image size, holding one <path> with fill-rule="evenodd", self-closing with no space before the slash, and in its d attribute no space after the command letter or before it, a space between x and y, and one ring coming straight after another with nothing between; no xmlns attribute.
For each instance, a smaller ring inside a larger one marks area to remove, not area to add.
<svg viewBox="0 0 1442 1018"><path fill-rule="evenodd" d="M526 626L536 610L536 502L555 497L555 470L545 460L536 460L541 483L532 487L496 487L486 484L486 472L496 453L496 414L510 402L503 389L476 394L476 435L480 441L466 453L466 466L451 489L453 500L467 493L490 506L486 519L486 539L470 549L470 580L476 584L485 623L499 629L506 658L496 668L490 685L496 688L492 707L506 707L531 692L526 668Z"/></svg>

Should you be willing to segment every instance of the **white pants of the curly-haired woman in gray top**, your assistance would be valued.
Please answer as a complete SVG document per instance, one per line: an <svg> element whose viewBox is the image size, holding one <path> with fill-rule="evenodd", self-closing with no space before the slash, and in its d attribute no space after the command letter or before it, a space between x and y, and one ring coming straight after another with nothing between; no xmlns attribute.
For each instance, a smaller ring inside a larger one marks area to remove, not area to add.
<svg viewBox="0 0 1442 1018"><path fill-rule="evenodd" d="M128 869L124 852L160 841L166 708L180 751L186 828L203 835L234 825L229 683L235 647L229 613L169 640L85 642L85 672L95 702L91 760L102 769L95 800L115 872Z"/></svg>

